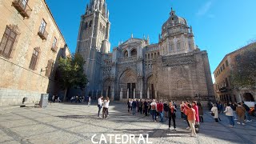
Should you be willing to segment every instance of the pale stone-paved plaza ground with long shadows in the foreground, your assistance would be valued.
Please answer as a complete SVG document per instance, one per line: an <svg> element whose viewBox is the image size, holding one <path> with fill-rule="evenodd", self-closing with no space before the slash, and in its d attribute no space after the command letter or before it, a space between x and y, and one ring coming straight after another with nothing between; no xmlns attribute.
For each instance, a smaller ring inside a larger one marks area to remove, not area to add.
<svg viewBox="0 0 256 144"><path fill-rule="evenodd" d="M227 126L227 119L215 124L209 112L204 115L200 134L190 137L186 122L178 115L178 130L167 130L167 122L152 122L137 114L127 114L126 105L110 104L110 117L97 118L97 106L54 103L45 109L0 107L0 143L86 143L101 134L149 134L153 143L256 143L256 122ZM107 138L109 139L109 138Z"/></svg>

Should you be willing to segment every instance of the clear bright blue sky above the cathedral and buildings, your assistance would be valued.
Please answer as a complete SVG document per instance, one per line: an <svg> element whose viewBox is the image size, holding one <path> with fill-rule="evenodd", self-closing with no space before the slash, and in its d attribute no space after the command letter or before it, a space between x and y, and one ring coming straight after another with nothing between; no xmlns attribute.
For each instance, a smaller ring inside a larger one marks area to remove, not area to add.
<svg viewBox="0 0 256 144"><path fill-rule="evenodd" d="M46 0L72 52L78 38L80 17L89 0ZM106 0L110 10L111 48L119 41L150 35L150 43L158 42L158 34L170 8L193 26L196 44L207 50L213 72L231 51L256 39L255 0Z"/></svg>

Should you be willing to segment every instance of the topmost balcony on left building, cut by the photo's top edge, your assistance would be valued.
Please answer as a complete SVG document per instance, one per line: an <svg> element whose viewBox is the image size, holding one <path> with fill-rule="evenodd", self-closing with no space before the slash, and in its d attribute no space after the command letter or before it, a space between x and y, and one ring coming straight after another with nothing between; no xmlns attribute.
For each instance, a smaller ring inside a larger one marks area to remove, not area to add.
<svg viewBox="0 0 256 144"><path fill-rule="evenodd" d="M14 0L12 6L18 10L18 13L22 15L23 18L30 18L32 9L28 6L27 1L25 0Z"/></svg>

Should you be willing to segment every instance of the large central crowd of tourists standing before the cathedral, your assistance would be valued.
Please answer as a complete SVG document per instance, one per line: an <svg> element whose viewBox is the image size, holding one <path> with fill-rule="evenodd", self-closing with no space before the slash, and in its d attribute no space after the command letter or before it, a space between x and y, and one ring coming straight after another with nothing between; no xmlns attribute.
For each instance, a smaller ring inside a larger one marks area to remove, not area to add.
<svg viewBox="0 0 256 144"><path fill-rule="evenodd" d="M128 113L132 111L133 115L136 112L144 114L145 116L152 115L154 122L164 122L164 117L169 119L169 128L171 127L171 121L173 122L174 129L176 130L176 112L177 105L175 102L163 102L162 100L157 101L155 99L129 99L127 102ZM203 122L203 111L202 106L198 102L181 102L180 104L181 118L187 123L187 130L191 130L191 136L196 137L196 128L198 130L199 122Z"/></svg>

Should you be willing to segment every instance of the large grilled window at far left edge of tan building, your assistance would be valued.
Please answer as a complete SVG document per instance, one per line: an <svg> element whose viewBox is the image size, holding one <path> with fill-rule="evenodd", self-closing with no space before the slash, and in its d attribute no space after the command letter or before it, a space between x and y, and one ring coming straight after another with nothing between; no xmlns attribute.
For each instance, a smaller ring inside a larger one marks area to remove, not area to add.
<svg viewBox="0 0 256 144"><path fill-rule="evenodd" d="M18 27L16 27L18 29ZM6 58L10 58L12 51L14 50L14 43L17 38L17 31L11 29L10 26L6 26L5 33L2 36L0 43L0 55Z"/></svg>

